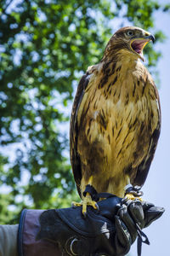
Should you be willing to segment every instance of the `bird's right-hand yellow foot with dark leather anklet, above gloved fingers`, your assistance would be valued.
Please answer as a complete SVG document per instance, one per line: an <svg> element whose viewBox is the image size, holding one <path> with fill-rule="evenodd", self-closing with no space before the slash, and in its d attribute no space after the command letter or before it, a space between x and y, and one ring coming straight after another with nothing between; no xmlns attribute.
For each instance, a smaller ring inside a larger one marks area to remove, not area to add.
<svg viewBox="0 0 170 256"><path fill-rule="evenodd" d="M135 200L138 199L139 201L143 201L140 196L143 195L143 192L140 191L139 186L132 186L128 185L125 191L125 200Z"/></svg>

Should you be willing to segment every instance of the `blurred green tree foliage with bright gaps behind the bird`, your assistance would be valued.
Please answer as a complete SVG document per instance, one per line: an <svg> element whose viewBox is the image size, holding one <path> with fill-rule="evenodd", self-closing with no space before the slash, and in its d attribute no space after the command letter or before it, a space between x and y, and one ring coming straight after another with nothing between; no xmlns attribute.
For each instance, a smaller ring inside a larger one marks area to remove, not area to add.
<svg viewBox="0 0 170 256"><path fill-rule="evenodd" d="M119 26L129 22L164 38L153 15L168 11L148 0L1 0L0 222L23 207L67 207L77 200L68 160L73 90L97 63ZM160 53L146 47L148 65Z"/></svg>

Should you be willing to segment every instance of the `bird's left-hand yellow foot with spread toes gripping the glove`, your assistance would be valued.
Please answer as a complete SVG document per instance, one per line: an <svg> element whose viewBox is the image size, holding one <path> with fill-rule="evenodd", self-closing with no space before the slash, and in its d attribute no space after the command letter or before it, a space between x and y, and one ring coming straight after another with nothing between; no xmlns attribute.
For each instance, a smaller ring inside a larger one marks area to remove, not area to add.
<svg viewBox="0 0 170 256"><path fill-rule="evenodd" d="M89 188L94 189L94 187L92 186L92 181L93 181L93 176L91 176L88 180L88 184L86 186L85 191L82 193L83 198L82 198L82 202L81 203L77 203L77 202L72 202L74 207L80 207L82 206L82 214L84 215L84 217L86 217L86 213L87 213L87 207L94 207L94 209L99 209L98 204L96 203L96 201L94 201L92 199L91 193L88 192L87 190L89 190ZM95 189L94 189L95 190ZM97 193L97 192L96 192Z"/></svg>

